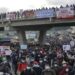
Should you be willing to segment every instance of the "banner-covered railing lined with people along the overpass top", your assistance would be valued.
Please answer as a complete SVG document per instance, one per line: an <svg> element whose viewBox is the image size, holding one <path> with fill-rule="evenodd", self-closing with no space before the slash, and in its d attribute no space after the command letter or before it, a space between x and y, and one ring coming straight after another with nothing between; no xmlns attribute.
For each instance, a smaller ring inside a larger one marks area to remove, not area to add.
<svg viewBox="0 0 75 75"><path fill-rule="evenodd" d="M68 13L67 13L68 12ZM67 16L66 16L67 15ZM49 18L50 21L67 21L75 19L75 5L60 8L42 8L21 10L0 14L0 22Z"/></svg>

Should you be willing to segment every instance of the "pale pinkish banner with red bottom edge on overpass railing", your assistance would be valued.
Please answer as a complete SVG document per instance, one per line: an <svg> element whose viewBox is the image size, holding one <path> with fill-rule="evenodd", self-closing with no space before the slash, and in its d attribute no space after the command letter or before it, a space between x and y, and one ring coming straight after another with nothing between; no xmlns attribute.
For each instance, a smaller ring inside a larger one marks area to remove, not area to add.
<svg viewBox="0 0 75 75"><path fill-rule="evenodd" d="M59 8L58 10L56 10L56 17L58 19L62 18L62 19L70 19L70 18L74 18L74 10L73 7L63 7L63 8Z"/></svg>

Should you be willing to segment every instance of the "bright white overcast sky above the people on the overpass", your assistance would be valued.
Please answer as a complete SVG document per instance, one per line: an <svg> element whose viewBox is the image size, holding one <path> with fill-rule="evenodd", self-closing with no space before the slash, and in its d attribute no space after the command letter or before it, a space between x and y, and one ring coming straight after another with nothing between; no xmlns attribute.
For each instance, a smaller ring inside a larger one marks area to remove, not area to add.
<svg viewBox="0 0 75 75"><path fill-rule="evenodd" d="M6 8L8 11L17 11L19 9L35 9L44 6L51 7L74 3L75 0L0 0L0 8Z"/></svg>

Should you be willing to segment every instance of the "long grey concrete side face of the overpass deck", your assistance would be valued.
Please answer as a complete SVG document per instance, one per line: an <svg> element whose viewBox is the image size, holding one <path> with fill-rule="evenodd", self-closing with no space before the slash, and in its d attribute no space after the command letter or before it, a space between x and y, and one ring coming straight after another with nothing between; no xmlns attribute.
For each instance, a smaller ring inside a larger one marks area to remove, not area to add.
<svg viewBox="0 0 75 75"><path fill-rule="evenodd" d="M36 26L36 25L57 25L64 23L75 23L75 19L50 19L50 18L38 18L38 19L15 19L15 20L1 20L0 27L4 27L8 24L11 26Z"/></svg>

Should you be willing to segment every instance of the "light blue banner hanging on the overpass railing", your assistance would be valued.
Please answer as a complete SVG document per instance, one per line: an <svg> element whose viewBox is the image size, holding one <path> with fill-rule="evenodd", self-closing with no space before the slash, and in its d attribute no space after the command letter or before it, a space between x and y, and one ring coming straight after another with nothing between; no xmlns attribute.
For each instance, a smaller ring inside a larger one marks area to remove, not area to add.
<svg viewBox="0 0 75 75"><path fill-rule="evenodd" d="M54 9L41 9L35 11L36 18L55 17Z"/></svg>

